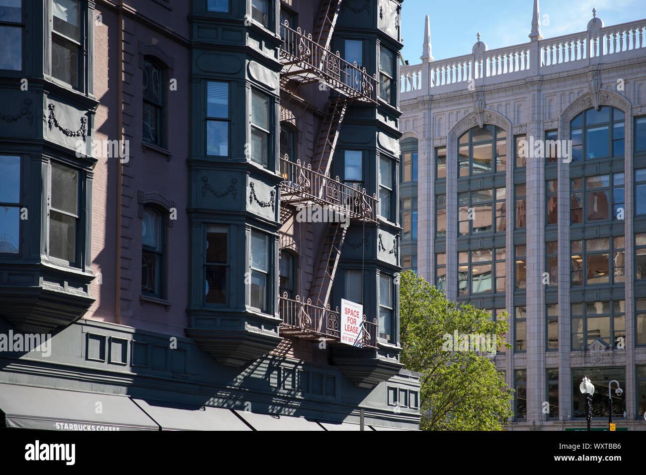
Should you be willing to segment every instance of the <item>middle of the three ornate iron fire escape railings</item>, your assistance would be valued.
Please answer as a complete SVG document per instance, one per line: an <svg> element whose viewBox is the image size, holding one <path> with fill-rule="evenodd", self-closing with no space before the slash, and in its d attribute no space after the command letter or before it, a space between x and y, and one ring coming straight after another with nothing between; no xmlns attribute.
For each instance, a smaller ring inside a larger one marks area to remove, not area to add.
<svg viewBox="0 0 646 475"><path fill-rule="evenodd" d="M325 211L344 213L350 219L366 222L377 220L377 195L366 193L356 184L348 186L329 174L313 170L310 164L291 162L287 155L280 158L280 173L283 181L280 184L280 200L295 206L306 206L316 203L325 206Z"/></svg>

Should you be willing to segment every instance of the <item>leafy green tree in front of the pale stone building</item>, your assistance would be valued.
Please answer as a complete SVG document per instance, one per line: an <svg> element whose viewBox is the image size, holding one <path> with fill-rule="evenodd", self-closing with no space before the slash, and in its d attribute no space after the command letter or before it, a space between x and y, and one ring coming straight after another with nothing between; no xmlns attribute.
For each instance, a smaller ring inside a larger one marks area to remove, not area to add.
<svg viewBox="0 0 646 475"><path fill-rule="evenodd" d="M500 430L512 412L512 389L479 352L474 335L489 334L497 348L508 330L506 312L491 321L486 310L457 306L413 272L399 286L401 362L420 372L422 430ZM466 336L466 346L465 337ZM457 337L457 338L456 338ZM457 342L458 348L453 348ZM485 341L479 341L485 344Z"/></svg>

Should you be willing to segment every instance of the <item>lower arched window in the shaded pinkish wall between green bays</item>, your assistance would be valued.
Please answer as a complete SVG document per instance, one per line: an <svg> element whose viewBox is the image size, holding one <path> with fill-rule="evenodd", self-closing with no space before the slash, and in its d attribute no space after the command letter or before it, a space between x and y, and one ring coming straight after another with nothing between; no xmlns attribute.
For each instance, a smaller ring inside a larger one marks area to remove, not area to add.
<svg viewBox="0 0 646 475"><path fill-rule="evenodd" d="M166 297L165 216L153 206L143 207L141 220L141 295Z"/></svg>

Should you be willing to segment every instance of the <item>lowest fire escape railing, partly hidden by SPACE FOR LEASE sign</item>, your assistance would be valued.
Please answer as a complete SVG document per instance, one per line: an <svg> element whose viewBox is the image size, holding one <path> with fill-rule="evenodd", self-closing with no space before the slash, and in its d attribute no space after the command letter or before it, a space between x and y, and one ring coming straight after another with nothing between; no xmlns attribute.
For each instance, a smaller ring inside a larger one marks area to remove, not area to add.
<svg viewBox="0 0 646 475"><path fill-rule="evenodd" d="M282 317L280 335L304 339L318 340L324 338L329 341L340 341L340 313L331 310L329 304L325 307L301 301L297 295L290 299L287 292L278 297L278 308ZM363 317L362 347L377 348L377 320L369 322L366 315Z"/></svg>

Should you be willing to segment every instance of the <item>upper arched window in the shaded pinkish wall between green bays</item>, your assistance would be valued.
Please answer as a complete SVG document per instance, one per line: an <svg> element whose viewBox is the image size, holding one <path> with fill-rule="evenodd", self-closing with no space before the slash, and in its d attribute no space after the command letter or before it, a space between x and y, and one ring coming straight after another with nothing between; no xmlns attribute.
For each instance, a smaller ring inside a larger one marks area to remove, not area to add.
<svg viewBox="0 0 646 475"><path fill-rule="evenodd" d="M163 68L151 58L143 62L143 134L144 142L165 146L165 74Z"/></svg>

